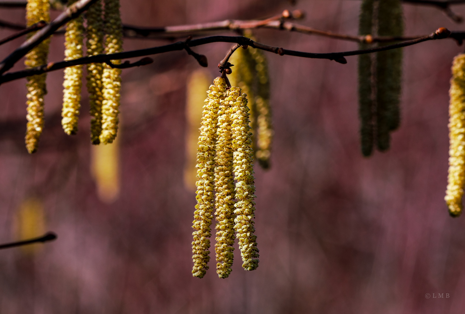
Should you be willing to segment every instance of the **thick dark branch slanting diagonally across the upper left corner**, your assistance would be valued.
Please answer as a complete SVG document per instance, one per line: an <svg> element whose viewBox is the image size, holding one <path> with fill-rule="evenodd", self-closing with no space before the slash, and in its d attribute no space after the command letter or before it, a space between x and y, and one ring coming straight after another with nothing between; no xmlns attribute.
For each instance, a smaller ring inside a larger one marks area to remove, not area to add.
<svg viewBox="0 0 465 314"><path fill-rule="evenodd" d="M30 39L27 39L19 48L10 53L0 63L0 74L7 72L24 57L27 52L31 51L35 46L39 45L43 40L50 37L56 30L61 26L65 25L68 21L78 17L82 12L86 11L91 4L96 0L79 0L74 3L71 7L68 7L63 13L61 13L53 22L42 28L40 31L35 33Z"/></svg>

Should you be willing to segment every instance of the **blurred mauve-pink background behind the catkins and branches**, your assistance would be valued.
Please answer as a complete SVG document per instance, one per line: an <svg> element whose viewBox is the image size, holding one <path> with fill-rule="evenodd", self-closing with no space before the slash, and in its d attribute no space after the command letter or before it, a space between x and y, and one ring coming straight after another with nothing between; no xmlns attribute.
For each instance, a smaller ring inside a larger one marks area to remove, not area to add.
<svg viewBox="0 0 465 314"><path fill-rule="evenodd" d="M124 23L147 27L299 8L306 12L301 24L355 35L360 1L121 0L121 6ZM464 5L452 9L465 15ZM434 7L405 4L404 13L408 35L440 26L465 30ZM24 24L24 15L0 10L10 22ZM2 29L0 37L11 33ZM307 52L358 47L285 31L255 34L262 43ZM22 41L1 46L1 54ZM167 42L126 39L124 46ZM208 57L214 77L230 46L194 50ZM260 263L244 271L236 248L227 279L216 275L214 254L203 279L191 274L195 194L184 187L183 167L186 79L199 68L192 57L159 54L152 65L123 71L121 193L112 204L100 202L90 172L86 92L80 131L69 137L60 125L63 72L49 73L46 128L30 156L23 140L25 79L1 85L0 242L16 240L15 213L30 196L43 200L45 228L58 240L36 244L42 248L33 255L0 251L0 313L464 313L465 217L451 218L444 202L450 66L463 50L452 39L404 49L401 127L391 150L368 159L359 149L357 57L341 65L267 53L275 140L272 169L255 170ZM63 36L53 37L49 60L63 59L63 52ZM14 69L20 68L21 62Z"/></svg>

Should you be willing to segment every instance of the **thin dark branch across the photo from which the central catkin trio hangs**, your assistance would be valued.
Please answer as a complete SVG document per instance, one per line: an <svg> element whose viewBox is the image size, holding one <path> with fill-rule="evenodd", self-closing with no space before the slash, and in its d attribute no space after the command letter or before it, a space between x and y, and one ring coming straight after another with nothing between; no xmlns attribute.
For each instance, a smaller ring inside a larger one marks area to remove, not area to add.
<svg viewBox="0 0 465 314"><path fill-rule="evenodd" d="M345 60L345 56L354 56L359 54L371 53L371 52L378 52L384 50L390 50L405 46L411 46L418 44L423 41L432 40L432 39L444 39L450 35L450 31L444 27L439 28L435 33L432 33L428 36L421 37L419 39L413 39L409 41L405 41L402 43L398 43L395 45L389 46L382 46L382 47L374 47L365 50L354 50L354 51L347 51L347 52L330 52L330 53L312 53L312 52L300 52L294 50L287 50L279 47L272 47L260 44L258 42L253 41L250 38L243 37L243 36L211 36L199 39L193 39L188 42L179 41L174 44L147 48L147 49L140 49L140 50L133 50L127 52L118 52L112 54L98 54L95 56L88 56L84 58L69 60L69 61L60 61L56 63L49 63L48 65L41 65L35 68L26 69L22 71L7 73L0 76L0 83L5 83L12 81L14 79L21 79L31 75L42 74L45 72L55 71L59 69L63 69L68 66L73 65L83 65L89 63L105 63L108 60L116 60L116 59L127 59L127 58L134 58L134 57L143 57L163 52L170 52L170 51L177 51L185 49L186 45L189 47L205 45L214 42L228 42L228 43L237 43L240 46L251 46L253 48L258 48L261 50L265 50L268 52L274 52L279 55L289 55L289 56L297 56L303 58L314 58L314 59L329 59L335 60L339 63L347 63Z"/></svg>

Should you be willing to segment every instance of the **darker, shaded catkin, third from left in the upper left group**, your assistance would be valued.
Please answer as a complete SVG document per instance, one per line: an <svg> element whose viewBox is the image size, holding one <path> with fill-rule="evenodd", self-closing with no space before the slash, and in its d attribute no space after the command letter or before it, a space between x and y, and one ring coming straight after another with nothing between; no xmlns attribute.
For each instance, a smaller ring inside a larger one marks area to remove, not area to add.
<svg viewBox="0 0 465 314"><path fill-rule="evenodd" d="M93 56L103 53L103 18L102 1L95 2L86 12L87 19L87 55ZM89 92L90 131L92 144L100 144L102 132L102 74L101 63L87 65L87 92Z"/></svg>

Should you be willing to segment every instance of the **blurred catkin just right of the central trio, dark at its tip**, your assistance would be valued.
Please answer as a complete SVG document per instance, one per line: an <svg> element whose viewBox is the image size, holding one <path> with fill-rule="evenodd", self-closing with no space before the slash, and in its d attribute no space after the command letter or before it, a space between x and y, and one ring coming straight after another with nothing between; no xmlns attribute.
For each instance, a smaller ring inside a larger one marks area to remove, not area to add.
<svg viewBox="0 0 465 314"><path fill-rule="evenodd" d="M268 63L266 62L265 54L261 50L252 49L251 54L252 58L255 60L255 69L257 71L257 97L255 98L257 150L255 156L260 166L264 169L268 169L270 167L271 144L273 139ZM250 98L251 97L249 97L249 99Z"/></svg>

